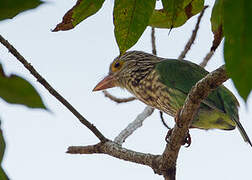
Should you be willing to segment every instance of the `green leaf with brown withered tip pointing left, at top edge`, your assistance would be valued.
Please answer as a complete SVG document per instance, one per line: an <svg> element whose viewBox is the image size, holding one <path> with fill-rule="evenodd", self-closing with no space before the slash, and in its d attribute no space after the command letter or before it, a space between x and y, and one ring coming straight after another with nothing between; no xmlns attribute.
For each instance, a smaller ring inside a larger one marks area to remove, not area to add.
<svg viewBox="0 0 252 180"><path fill-rule="evenodd" d="M64 15L53 32L73 29L81 21L95 14L101 9L105 0L78 0L76 4Z"/></svg>

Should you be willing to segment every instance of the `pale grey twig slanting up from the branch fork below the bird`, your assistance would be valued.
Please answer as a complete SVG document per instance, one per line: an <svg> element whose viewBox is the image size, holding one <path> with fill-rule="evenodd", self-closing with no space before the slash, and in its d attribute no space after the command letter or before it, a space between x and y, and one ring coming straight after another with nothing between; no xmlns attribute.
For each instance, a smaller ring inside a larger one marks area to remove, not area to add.
<svg viewBox="0 0 252 180"><path fill-rule="evenodd" d="M114 142L122 145L127 137L129 137L136 129L143 125L143 121L149 117L153 111L154 108L146 106L143 112L141 112L132 123L130 123L124 130L120 132L120 134L115 138Z"/></svg>

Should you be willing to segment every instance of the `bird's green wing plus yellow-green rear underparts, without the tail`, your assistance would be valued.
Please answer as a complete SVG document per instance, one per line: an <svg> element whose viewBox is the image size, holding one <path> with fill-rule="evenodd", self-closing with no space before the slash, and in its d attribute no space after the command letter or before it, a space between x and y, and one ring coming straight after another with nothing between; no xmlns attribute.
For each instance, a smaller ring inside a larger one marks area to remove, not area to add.
<svg viewBox="0 0 252 180"><path fill-rule="evenodd" d="M157 63L154 71L157 71L159 80L164 85L180 94L177 97L174 94L174 99L182 98L182 100L176 100L180 102L179 106L171 104L173 108L182 107L192 86L208 74L196 64L173 59ZM201 129L234 129L235 121L238 120L238 105L233 94L222 85L201 103L192 126Z"/></svg>

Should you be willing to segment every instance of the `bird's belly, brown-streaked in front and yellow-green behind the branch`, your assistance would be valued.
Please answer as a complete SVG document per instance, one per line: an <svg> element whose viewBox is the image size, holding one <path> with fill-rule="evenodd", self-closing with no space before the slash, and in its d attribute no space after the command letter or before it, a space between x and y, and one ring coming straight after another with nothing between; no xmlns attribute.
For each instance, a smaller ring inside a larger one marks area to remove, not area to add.
<svg viewBox="0 0 252 180"><path fill-rule="evenodd" d="M153 91L151 91L153 92ZM172 89L167 91L156 91L151 93L142 89L141 91L132 92L143 103L159 109L166 114L175 117L177 111L183 106L185 96L182 93ZM167 93L169 92L169 93ZM230 117L221 111L210 107L201 106L195 114L192 122L192 127L199 129L223 129L232 130L235 128L235 123Z"/></svg>

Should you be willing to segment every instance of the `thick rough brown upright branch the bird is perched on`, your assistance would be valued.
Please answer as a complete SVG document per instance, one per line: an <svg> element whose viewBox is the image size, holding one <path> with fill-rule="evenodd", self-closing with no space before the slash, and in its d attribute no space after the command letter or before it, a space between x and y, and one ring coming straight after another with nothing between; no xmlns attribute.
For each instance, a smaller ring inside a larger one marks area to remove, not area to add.
<svg viewBox="0 0 252 180"><path fill-rule="evenodd" d="M192 87L186 101L178 114L178 124L175 125L169 138L169 143L162 155L161 169L165 178L173 176L176 170L176 161L181 147L181 142L185 139L192 119L200 106L200 103L208 94L228 79L225 67L221 66L212 73L209 73L202 80Z"/></svg>

